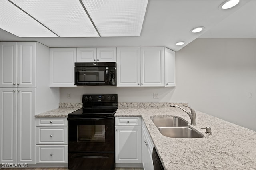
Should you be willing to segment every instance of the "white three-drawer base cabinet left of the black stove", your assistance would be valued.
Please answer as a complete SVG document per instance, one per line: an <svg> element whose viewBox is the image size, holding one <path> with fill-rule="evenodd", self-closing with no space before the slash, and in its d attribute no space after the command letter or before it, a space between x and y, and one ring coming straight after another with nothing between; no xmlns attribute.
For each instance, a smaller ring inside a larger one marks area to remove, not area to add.
<svg viewBox="0 0 256 170"><path fill-rule="evenodd" d="M68 162L67 118L36 119L36 163Z"/></svg>

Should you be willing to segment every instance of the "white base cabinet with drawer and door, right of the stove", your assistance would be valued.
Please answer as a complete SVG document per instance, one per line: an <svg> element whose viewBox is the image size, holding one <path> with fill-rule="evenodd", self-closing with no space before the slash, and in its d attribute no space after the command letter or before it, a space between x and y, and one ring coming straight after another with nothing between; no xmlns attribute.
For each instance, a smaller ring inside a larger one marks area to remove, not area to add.
<svg viewBox="0 0 256 170"><path fill-rule="evenodd" d="M116 163L141 164L141 118L115 118Z"/></svg>

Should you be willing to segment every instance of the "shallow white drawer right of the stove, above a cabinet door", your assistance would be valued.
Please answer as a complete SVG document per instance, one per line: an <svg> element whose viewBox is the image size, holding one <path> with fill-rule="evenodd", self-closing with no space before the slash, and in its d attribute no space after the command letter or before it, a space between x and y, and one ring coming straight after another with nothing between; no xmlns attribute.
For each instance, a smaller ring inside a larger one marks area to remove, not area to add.
<svg viewBox="0 0 256 170"><path fill-rule="evenodd" d="M141 126L140 117L115 117L116 126Z"/></svg>

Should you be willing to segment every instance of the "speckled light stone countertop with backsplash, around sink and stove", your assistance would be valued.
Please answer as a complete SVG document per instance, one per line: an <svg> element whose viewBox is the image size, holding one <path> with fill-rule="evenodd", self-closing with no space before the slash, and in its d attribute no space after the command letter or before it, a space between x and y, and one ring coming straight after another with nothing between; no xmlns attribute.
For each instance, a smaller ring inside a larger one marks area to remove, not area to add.
<svg viewBox="0 0 256 170"><path fill-rule="evenodd" d="M173 103L182 105L183 103ZM170 103L119 103L116 117L142 117L166 170L256 170L256 132L196 111L197 125L190 125L189 116ZM60 108L35 117L67 117L81 108L81 103L60 104ZM150 117L176 116L204 138L168 138L163 136ZM212 135L205 134L211 127Z"/></svg>

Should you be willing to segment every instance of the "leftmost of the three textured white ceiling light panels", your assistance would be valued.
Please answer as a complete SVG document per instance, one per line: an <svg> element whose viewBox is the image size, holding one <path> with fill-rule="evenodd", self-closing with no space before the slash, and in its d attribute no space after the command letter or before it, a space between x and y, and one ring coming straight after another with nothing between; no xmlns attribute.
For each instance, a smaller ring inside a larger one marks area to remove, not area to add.
<svg viewBox="0 0 256 170"><path fill-rule="evenodd" d="M57 37L7 0L0 0L0 28L19 37Z"/></svg>

